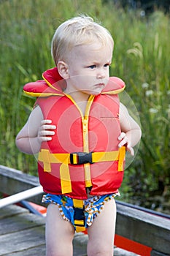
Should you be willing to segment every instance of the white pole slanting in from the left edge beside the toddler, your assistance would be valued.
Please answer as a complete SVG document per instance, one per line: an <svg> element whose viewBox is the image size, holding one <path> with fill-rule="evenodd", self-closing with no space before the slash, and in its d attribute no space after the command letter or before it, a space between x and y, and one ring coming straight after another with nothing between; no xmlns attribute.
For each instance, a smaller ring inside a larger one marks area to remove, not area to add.
<svg viewBox="0 0 170 256"><path fill-rule="evenodd" d="M11 195L9 197L5 197L0 200L0 208L4 206L8 206L12 203L18 203L21 200L25 200L29 197L34 197L35 195L39 195L43 193L42 186L34 187L33 189L28 189L26 191L20 192L15 195Z"/></svg>

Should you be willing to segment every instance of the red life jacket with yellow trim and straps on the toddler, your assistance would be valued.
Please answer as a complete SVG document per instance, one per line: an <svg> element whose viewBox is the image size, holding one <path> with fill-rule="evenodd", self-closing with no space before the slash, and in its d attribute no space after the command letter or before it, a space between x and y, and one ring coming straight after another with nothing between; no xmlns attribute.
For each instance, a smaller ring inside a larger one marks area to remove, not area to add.
<svg viewBox="0 0 170 256"><path fill-rule="evenodd" d="M82 115L69 95L64 94L56 68L43 73L44 80L24 86L26 94L38 97L36 104L45 119L57 128L53 139L39 151L39 181L45 192L77 199L117 192L123 181L125 147L118 148L120 135L117 94L125 83L109 78L98 96L90 95Z"/></svg>

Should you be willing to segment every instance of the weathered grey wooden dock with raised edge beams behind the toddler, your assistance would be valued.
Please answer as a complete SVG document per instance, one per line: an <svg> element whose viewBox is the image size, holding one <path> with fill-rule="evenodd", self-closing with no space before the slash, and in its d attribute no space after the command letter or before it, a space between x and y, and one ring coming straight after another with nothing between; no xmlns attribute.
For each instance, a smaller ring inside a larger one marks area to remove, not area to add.
<svg viewBox="0 0 170 256"><path fill-rule="evenodd" d="M0 192L14 195L39 186L37 177L20 170L0 165ZM41 204L42 195L29 200ZM135 243L149 246L150 256L170 256L170 217L148 213L144 209L117 203L116 235ZM88 235L74 236L74 256L85 256ZM118 245L119 246L119 245ZM122 248L125 248L122 246ZM129 246L126 249L129 249ZM131 250L136 252L136 250ZM146 256L138 251L139 255ZM31 214L19 206L0 208L0 255L43 256L45 255L45 218ZM116 248L114 256L134 256L132 252ZM148 255L148 254L147 254Z"/></svg>

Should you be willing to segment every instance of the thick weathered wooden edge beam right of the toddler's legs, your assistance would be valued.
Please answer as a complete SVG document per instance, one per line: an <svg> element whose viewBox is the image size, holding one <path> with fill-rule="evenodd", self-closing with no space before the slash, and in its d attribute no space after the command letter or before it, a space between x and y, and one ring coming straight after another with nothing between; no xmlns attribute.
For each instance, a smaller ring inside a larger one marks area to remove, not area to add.
<svg viewBox="0 0 170 256"><path fill-rule="evenodd" d="M116 233L169 255L169 219L117 205Z"/></svg>

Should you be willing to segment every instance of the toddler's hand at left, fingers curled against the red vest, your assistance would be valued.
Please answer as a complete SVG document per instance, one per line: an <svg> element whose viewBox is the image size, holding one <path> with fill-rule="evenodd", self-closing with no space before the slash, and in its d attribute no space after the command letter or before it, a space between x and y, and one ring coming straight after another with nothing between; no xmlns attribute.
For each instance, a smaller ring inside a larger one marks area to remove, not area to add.
<svg viewBox="0 0 170 256"><path fill-rule="evenodd" d="M48 119L41 121L37 135L39 143L42 143L42 141L52 140L53 135L55 135L53 129L56 129L56 127L55 125L51 125L51 123L52 121Z"/></svg>

